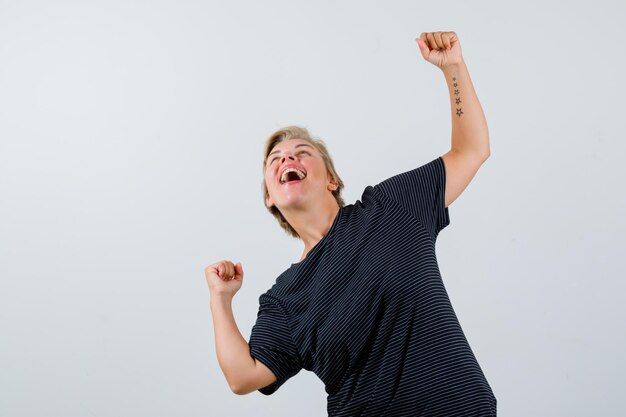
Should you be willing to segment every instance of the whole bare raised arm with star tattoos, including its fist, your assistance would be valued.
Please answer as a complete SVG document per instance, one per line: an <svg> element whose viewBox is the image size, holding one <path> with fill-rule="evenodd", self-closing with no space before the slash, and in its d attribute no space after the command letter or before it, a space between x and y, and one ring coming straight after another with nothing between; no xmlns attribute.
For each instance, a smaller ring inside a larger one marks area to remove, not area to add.
<svg viewBox="0 0 626 417"><path fill-rule="evenodd" d="M442 155L448 207L489 158L489 130L456 33L424 32L416 42L424 59L442 70L450 94L452 145Z"/></svg>

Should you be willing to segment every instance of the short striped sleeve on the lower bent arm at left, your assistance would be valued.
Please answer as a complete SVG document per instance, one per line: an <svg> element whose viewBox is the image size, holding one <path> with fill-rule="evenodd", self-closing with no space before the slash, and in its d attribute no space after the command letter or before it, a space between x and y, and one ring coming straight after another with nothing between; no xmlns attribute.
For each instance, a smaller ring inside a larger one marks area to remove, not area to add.
<svg viewBox="0 0 626 417"><path fill-rule="evenodd" d="M258 390L262 394L273 394L303 368L284 310L276 300L265 294L259 297L257 320L252 326L248 345L252 357L263 362L277 378Z"/></svg>

